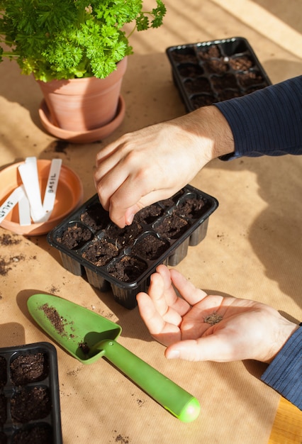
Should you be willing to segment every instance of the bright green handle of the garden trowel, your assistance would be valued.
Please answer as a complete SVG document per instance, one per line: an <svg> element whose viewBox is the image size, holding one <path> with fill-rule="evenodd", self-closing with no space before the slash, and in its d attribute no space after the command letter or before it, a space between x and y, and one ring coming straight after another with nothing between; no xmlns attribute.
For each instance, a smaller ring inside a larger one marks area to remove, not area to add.
<svg viewBox="0 0 302 444"><path fill-rule="evenodd" d="M197 418L200 405L194 396L181 389L157 372L147 362L131 353L115 340L103 340L97 345L98 350L104 350L104 357L121 372L132 379L142 390L149 394L171 414L181 421L190 422Z"/></svg>

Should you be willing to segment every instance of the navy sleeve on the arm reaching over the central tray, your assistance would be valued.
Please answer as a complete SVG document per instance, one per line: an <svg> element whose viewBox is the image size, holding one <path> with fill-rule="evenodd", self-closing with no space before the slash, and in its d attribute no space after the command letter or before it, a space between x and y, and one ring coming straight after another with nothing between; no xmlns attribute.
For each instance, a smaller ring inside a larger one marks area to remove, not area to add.
<svg viewBox="0 0 302 444"><path fill-rule="evenodd" d="M235 152L220 157L302 155L302 76L215 106L228 121Z"/></svg>

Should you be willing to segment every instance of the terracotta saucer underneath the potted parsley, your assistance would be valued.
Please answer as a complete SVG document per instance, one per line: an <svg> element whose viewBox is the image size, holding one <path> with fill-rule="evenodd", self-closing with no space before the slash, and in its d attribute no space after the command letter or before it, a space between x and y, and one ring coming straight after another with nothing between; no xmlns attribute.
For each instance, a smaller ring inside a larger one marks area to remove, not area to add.
<svg viewBox="0 0 302 444"><path fill-rule="evenodd" d="M113 133L118 126L121 125L123 118L125 116L125 101L122 96L119 97L118 100L118 111L116 113L116 117L105 126L101 126L101 128L96 128L91 131L77 132L77 131L68 131L59 128L54 125L50 120L50 111L47 108L45 100L40 104L39 108L39 116L40 121L48 133L55 135L55 137L68 140L72 143L91 143L96 142L96 140L101 140L103 138L108 137L111 133Z"/></svg>

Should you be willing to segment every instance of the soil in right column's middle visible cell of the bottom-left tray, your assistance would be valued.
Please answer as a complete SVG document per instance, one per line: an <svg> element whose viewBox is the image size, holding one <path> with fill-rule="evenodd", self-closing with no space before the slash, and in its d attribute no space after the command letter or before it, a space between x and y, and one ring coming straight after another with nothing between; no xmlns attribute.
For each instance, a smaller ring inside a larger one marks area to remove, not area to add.
<svg viewBox="0 0 302 444"><path fill-rule="evenodd" d="M21 423L45 418L51 411L47 387L23 388L11 398L11 417Z"/></svg>

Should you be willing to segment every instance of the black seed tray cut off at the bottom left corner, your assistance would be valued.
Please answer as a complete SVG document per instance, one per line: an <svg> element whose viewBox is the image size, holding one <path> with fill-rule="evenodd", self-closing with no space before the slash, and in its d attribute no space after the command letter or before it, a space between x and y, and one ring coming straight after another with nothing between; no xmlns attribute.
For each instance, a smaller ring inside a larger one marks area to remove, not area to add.
<svg viewBox="0 0 302 444"><path fill-rule="evenodd" d="M0 348L0 443L62 444L52 344Z"/></svg>

